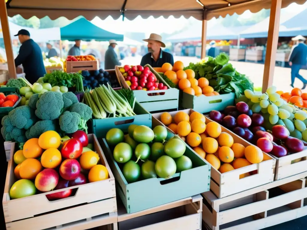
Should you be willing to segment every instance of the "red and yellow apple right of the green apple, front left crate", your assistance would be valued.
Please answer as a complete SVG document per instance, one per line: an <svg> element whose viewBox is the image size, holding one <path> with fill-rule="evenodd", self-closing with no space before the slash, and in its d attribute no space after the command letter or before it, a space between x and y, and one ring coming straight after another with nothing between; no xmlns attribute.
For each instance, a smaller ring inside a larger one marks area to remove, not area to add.
<svg viewBox="0 0 307 230"><path fill-rule="evenodd" d="M35 187L42 192L54 189L59 181L59 174L52 168L46 168L37 174Z"/></svg>

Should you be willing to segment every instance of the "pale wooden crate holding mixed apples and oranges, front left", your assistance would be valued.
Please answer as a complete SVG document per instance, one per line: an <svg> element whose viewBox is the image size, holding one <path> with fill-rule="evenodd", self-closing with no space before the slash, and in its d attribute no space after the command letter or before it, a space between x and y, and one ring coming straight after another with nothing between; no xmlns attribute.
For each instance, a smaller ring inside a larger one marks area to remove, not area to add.
<svg viewBox="0 0 307 230"><path fill-rule="evenodd" d="M95 225L94 223L98 224L96 226L100 226L102 222L104 224L115 223L117 212L115 179L97 138L94 134L89 134L88 138L99 154L100 163L107 167L110 178L12 200L9 191L16 178L14 176L15 164L11 159L8 164L2 200L6 228L11 230L67 229L65 226L75 225L76 223L73 222L76 221L82 223L90 221L92 226ZM14 151L17 151L17 144L14 147ZM46 198L46 194L68 189L76 190L75 195L57 201L49 201ZM106 218L100 222L96 219L99 216Z"/></svg>

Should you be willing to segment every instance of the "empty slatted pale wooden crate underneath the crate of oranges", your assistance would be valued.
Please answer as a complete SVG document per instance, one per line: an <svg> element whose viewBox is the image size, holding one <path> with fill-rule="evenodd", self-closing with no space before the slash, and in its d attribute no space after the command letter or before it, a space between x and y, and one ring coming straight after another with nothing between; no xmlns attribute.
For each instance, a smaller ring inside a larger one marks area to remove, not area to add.
<svg viewBox="0 0 307 230"><path fill-rule="evenodd" d="M305 216L305 176L307 172L220 199L205 192L203 221L212 230L258 230Z"/></svg>

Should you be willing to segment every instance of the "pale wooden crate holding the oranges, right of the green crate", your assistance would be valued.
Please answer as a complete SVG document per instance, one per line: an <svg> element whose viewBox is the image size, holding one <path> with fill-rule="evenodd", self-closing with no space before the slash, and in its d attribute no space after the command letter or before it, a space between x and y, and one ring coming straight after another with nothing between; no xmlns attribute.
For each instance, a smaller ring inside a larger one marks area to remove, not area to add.
<svg viewBox="0 0 307 230"><path fill-rule="evenodd" d="M185 109L181 111L184 111L185 113L188 114L194 112L193 109ZM170 112L172 117L175 116L176 113L178 113L178 111ZM162 122L160 121L161 114L162 113L153 114L152 119L153 120L157 119L160 122L160 124L162 124ZM206 124L211 121L212 120L206 117ZM222 132L229 133L233 137L234 143L243 144L245 147L251 145L249 142L237 136L235 133L229 131L227 128L224 128L223 126L222 126ZM212 190L217 197L222 198L229 196L231 194L235 194L244 190L254 188L259 185L272 182L274 180L276 159L274 159L272 156L266 153L263 154L266 156L268 160L262 161L258 164L252 164L246 167L235 169L223 174L221 174L214 167L211 167L210 190ZM257 170L256 174L241 179L239 178L241 174L252 172L255 170Z"/></svg>

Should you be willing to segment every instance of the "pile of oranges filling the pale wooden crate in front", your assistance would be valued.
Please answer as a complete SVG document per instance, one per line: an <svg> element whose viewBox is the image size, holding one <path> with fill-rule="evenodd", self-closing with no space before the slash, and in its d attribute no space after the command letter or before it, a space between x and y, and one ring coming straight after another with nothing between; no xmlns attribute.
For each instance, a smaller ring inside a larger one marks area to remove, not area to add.
<svg viewBox="0 0 307 230"><path fill-rule="evenodd" d="M257 146L244 147L234 143L229 133L222 132L220 124L215 121L206 124L206 118L201 113L192 112L188 115L179 111L172 117L165 112L161 114L160 120L220 173L269 159ZM249 175L250 173L245 173L240 178Z"/></svg>

